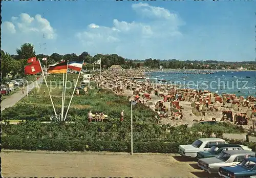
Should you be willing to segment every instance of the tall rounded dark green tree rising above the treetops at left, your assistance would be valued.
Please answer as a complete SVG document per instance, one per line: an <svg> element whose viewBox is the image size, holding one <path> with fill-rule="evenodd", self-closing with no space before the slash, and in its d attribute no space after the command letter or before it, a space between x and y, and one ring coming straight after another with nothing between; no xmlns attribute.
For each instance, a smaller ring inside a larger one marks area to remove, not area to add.
<svg viewBox="0 0 256 178"><path fill-rule="evenodd" d="M22 44L20 49L16 49L17 59L29 59L35 57L34 46L31 43Z"/></svg>

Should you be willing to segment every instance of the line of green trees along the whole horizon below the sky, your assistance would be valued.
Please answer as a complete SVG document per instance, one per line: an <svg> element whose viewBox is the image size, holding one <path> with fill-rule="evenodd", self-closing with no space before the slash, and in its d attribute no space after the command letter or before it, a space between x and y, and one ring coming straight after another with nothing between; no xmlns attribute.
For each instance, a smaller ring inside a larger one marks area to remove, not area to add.
<svg viewBox="0 0 256 178"><path fill-rule="evenodd" d="M11 76L24 77L24 67L27 65L27 59L36 56L37 59L47 58L46 61L41 61L42 65L54 64L61 60L69 61L84 61L87 64L83 65L83 69L92 70L99 68L99 65L94 65L95 61L101 59L101 68L108 69L111 65L121 65L123 69L140 68L146 67L151 69L222 69L229 67L229 69L237 69L238 67L247 68L248 70L256 70L256 62L219 62L214 60L206 61L181 61L177 59L159 60L159 59L145 59L143 60L132 60L127 59L117 54L96 54L91 56L88 52L84 51L80 55L75 53L71 54L58 54L53 53L52 55L36 54L33 44L25 43L19 49L16 49L16 54L8 54L1 50L1 71L2 80L7 77L8 74Z"/></svg>

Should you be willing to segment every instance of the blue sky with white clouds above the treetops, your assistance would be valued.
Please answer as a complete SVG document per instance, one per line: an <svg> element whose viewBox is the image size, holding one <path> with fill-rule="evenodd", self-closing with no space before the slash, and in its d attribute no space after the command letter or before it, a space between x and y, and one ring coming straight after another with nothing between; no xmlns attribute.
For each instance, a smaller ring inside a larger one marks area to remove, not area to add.
<svg viewBox="0 0 256 178"><path fill-rule="evenodd" d="M255 60L255 1L2 2L1 49L129 59Z"/></svg>

